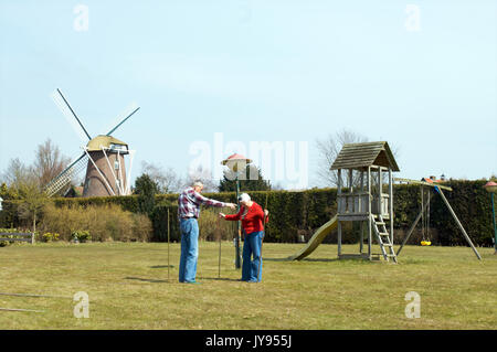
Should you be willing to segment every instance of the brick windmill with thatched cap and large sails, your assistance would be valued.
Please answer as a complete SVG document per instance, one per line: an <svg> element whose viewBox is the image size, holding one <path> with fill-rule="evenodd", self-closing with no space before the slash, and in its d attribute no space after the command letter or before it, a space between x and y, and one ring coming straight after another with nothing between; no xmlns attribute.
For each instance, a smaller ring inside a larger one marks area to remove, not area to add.
<svg viewBox="0 0 497 352"><path fill-rule="evenodd" d="M119 116L119 122L106 135L98 135L92 138L59 88L52 94L52 98L67 119L77 121L88 142L82 147L83 153L45 186L45 192L49 196L67 188L74 177L80 174L85 168L83 196L130 194L129 175L135 151L129 150L127 143L114 138L110 134L138 111L139 107L131 105ZM126 173L124 158L127 154L129 154L128 173Z"/></svg>

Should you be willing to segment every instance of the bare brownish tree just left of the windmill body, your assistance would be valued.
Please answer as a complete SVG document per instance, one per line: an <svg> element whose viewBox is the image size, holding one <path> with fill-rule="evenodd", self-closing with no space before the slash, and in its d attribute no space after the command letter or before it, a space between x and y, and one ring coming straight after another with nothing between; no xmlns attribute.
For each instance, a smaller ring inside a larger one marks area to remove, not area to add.
<svg viewBox="0 0 497 352"><path fill-rule="evenodd" d="M61 153L59 147L49 138L38 146L33 162L33 172L39 178L41 186L46 185L71 162L71 159Z"/></svg>

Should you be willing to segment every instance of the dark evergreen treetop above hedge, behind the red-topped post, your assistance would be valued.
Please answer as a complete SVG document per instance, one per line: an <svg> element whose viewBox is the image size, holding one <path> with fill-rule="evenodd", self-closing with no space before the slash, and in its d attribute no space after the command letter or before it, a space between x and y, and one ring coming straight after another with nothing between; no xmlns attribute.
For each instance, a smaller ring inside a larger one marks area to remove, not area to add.
<svg viewBox="0 0 497 352"><path fill-rule="evenodd" d="M245 175L240 179L240 190L247 191L271 191L271 182L263 179L261 169L255 166L247 164ZM223 179L219 183L220 192L236 191L236 175L231 170L225 170Z"/></svg>

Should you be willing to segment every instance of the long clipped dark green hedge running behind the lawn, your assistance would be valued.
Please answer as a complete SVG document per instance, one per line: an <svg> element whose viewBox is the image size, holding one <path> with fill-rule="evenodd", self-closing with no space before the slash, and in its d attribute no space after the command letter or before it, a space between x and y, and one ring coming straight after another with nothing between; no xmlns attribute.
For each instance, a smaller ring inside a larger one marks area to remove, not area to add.
<svg viewBox="0 0 497 352"><path fill-rule="evenodd" d="M493 223L489 194L483 189L486 181L450 181L446 184L453 188L453 192L444 194L454 209L457 217L463 223L469 237L480 246L491 246ZM250 192L252 199L265 205L267 194L267 209L271 212L269 225L266 228L266 242L295 243L303 235L308 241L313 233L327 222L337 210L336 189L313 189L302 192L292 191L257 191ZM223 202L235 202L234 192L205 193ZM430 232L432 243L441 245L466 245L457 224L443 203L441 196L432 193ZM156 195L156 206L150 214L154 225L152 241L167 241L167 210L169 209L169 225L171 241L179 241L178 223L178 194ZM119 204L124 210L138 212L137 195L87 198L87 199L55 199L56 206L71 204L104 205L107 203ZM19 224L15 201L4 201L4 211L0 213L0 226L14 227ZM394 185L394 227L395 242L402 241L420 211L420 186ZM357 224L346 224L345 243L355 243L358 238ZM419 243L421 239L421 223L413 233L410 243ZM336 242L336 234L326 238L327 243Z"/></svg>

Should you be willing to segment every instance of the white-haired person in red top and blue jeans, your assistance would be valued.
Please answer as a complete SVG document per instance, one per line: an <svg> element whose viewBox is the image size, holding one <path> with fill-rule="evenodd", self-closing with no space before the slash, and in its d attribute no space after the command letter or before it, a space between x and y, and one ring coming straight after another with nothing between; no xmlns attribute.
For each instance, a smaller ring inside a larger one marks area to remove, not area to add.
<svg viewBox="0 0 497 352"><path fill-rule="evenodd" d="M262 279L261 247L264 237L264 216L268 222L267 210L263 211L261 205L253 202L248 194L242 193L239 196L240 211L233 215L219 213L220 217L228 221L242 221L242 232L245 241L243 243L242 281L257 282ZM253 259L252 259L253 256ZM260 269L261 266L261 269Z"/></svg>

